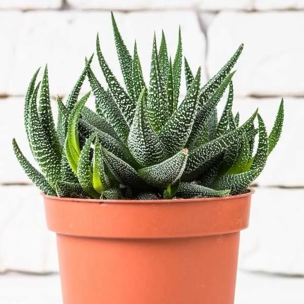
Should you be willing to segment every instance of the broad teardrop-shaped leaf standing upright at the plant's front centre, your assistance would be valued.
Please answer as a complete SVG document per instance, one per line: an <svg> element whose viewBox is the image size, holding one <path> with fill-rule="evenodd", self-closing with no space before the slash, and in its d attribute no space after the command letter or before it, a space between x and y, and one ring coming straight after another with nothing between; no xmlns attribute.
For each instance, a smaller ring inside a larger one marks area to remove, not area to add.
<svg viewBox="0 0 304 304"><path fill-rule="evenodd" d="M145 108L145 88L138 99L135 117L128 137L130 152L138 164L147 167L166 159L164 147L151 128Z"/></svg>

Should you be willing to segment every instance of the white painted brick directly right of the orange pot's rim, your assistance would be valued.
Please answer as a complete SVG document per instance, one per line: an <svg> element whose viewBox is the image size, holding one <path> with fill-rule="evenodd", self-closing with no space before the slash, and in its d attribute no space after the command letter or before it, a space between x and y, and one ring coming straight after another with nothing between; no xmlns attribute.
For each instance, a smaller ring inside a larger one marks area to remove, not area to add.
<svg viewBox="0 0 304 304"><path fill-rule="evenodd" d="M241 270L304 275L303 196L304 189L256 188L241 237Z"/></svg>

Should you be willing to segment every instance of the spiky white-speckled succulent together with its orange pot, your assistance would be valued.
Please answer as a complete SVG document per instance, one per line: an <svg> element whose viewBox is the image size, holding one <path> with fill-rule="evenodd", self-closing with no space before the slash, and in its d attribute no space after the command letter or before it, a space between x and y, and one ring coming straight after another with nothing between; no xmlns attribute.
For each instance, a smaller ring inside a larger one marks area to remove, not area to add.
<svg viewBox="0 0 304 304"><path fill-rule="evenodd" d="M168 57L164 33L153 40L149 83L136 44L131 57L112 15L125 88L107 65L97 36L104 89L86 60L55 128L45 68L29 84L26 134L37 171L14 151L43 192L57 233L64 304L232 304L240 231L248 226L252 189L278 142L283 100L267 134L257 110L243 124L232 113L231 72L243 45L201 86L186 59L179 100L182 43ZM96 112L79 100L88 78ZM228 97L220 119L216 106ZM40 96L38 105L37 96ZM255 121L257 120L257 128ZM257 148L254 148L258 134Z"/></svg>

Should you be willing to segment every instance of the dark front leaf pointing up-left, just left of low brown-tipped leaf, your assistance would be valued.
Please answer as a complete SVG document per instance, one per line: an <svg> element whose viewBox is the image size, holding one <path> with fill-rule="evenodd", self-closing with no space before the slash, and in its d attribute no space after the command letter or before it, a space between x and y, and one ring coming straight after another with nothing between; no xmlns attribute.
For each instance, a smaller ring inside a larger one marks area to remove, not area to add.
<svg viewBox="0 0 304 304"><path fill-rule="evenodd" d="M102 147L101 154L108 169L119 182L125 185L136 186L140 186L142 184L142 179L129 164Z"/></svg>

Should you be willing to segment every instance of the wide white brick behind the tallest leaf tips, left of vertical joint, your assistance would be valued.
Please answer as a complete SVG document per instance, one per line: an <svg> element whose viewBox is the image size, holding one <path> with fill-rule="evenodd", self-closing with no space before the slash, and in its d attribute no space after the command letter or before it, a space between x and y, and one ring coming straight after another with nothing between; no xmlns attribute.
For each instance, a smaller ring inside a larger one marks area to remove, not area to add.
<svg viewBox="0 0 304 304"><path fill-rule="evenodd" d="M205 39L195 13L116 13L116 19L131 53L133 53L134 39L137 40L146 80L149 75L151 45L155 29L159 40L161 29L165 30L169 50L174 56L180 24L184 54L189 64L193 69L204 64ZM15 59L11 69L14 77L10 78L9 94L23 95L34 70L46 62L49 67L52 94L68 94L83 69L85 56L96 52L97 32L99 32L101 48L106 60L118 79L122 81L108 12L31 12L22 14L13 21L15 28L18 28L18 35L15 39ZM96 58L92 67L102 79ZM5 70L1 73L6 75ZM183 82L183 92L184 87ZM86 90L90 90L88 85L84 87L84 91Z"/></svg>

